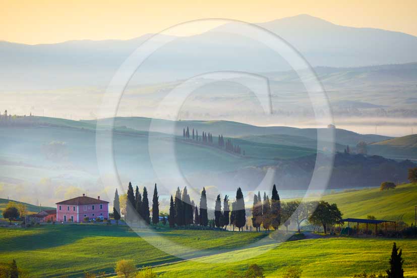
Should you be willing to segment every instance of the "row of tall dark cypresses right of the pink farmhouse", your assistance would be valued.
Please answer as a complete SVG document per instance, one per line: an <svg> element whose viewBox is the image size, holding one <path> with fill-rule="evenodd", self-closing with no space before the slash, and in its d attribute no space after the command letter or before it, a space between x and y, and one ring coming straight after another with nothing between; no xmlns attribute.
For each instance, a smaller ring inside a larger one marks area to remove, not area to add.
<svg viewBox="0 0 417 278"><path fill-rule="evenodd" d="M168 222L170 227L175 225L178 227L184 227L189 225L199 225L206 227L209 225L208 213L207 213L207 193L203 187L200 197L200 208L191 200L188 194L187 187L181 191L178 187L175 192L175 197L171 195L169 204L169 216ZM113 202L113 214L114 219L120 219L120 203L118 199L117 190L114 196ZM135 221L137 216L150 224L150 210L148 191L146 187L143 188L143 193L139 192L139 187L136 186L136 190L133 190L132 183L129 183L127 201L126 201L126 221ZM158 190L155 184L153 199L152 199L152 223L156 225L159 222L159 196ZM269 200L268 195L264 193L264 200L262 202L260 192L254 196L254 203L252 207L252 223L253 226L260 230L261 225L264 229L269 230L269 227L278 229L281 224L281 203L274 184L272 188L272 197ZM217 195L214 207L214 225L218 228L223 228L228 225L237 227L239 231L246 225L246 209L245 200L241 188L236 191L236 198L231 204L231 211L229 206L229 196L223 198L223 209L220 194Z"/></svg>

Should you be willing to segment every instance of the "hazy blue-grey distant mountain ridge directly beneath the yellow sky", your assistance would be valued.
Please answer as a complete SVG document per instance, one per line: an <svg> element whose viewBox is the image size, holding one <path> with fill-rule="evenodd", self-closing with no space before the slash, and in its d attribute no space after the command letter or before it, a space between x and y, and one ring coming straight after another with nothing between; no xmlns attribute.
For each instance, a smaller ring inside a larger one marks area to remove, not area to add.
<svg viewBox="0 0 417 278"><path fill-rule="evenodd" d="M414 51L417 37L400 32L339 26L308 15L257 25L288 41L313 67L358 67L417 61L417 52ZM142 76L136 81L175 80L190 73L195 75L219 68L247 72L289 69L283 59L261 43L221 33L226 26L169 43L149 58L143 65ZM125 41L82 40L38 45L0 42L2 89L106 86L129 54L151 35ZM196 64L195 59L201 61Z"/></svg>

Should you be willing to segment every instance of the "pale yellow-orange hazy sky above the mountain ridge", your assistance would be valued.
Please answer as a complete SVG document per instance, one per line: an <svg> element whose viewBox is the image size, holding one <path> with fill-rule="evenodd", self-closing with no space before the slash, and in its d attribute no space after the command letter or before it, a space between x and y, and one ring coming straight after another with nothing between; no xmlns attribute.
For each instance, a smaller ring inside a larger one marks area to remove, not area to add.
<svg viewBox="0 0 417 278"><path fill-rule="evenodd" d="M309 14L339 25L417 35L417 1L414 0L0 0L0 11L0 40L28 44L74 39L130 39L201 18L265 22L299 14Z"/></svg>

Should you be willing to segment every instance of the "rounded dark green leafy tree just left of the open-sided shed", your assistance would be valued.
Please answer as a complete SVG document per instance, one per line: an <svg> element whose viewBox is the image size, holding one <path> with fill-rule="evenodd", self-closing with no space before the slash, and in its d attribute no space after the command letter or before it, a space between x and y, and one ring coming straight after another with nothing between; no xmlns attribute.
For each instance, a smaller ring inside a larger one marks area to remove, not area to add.
<svg viewBox="0 0 417 278"><path fill-rule="evenodd" d="M316 210L309 217L309 221L315 225L322 225L324 233L327 234L327 227L335 225L342 220L342 213L337 208L336 204L329 204L325 201L320 201Z"/></svg>

